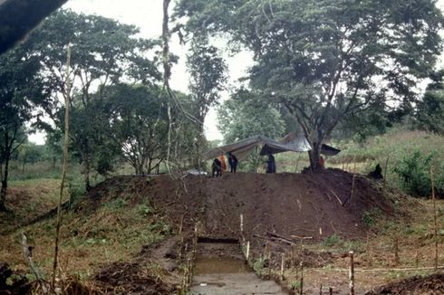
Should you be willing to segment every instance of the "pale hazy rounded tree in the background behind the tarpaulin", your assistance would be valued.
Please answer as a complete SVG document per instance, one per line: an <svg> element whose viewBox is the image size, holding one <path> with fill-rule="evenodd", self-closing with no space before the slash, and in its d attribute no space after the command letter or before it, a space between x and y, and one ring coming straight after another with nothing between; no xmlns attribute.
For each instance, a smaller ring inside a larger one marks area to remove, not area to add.
<svg viewBox="0 0 444 295"><path fill-rule="evenodd" d="M251 90L239 89L218 109L217 128L225 142L263 135L281 138L285 122L279 111L260 100Z"/></svg>

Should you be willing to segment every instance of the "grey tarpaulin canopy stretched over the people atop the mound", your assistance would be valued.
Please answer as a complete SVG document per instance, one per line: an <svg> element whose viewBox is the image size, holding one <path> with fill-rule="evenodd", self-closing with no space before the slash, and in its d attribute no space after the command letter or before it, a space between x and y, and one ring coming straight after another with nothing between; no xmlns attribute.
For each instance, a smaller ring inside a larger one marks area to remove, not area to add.
<svg viewBox="0 0 444 295"><path fill-rule="evenodd" d="M226 146L212 148L208 150L203 156L204 158L209 159L217 157L221 153L233 153L236 155L236 157L242 158L246 157L246 155L253 148L261 148L260 155L262 156L267 155L268 153L278 154L288 151L301 153L308 152L312 149L312 147L310 147L310 144L308 143L308 140L304 138L304 136L295 137L294 134L290 133L289 135L285 136L285 138L282 138L279 141L275 141L262 135L256 135L251 138L236 141L235 143ZM321 154L333 156L340 151L341 150L337 148L323 145L321 149Z"/></svg>

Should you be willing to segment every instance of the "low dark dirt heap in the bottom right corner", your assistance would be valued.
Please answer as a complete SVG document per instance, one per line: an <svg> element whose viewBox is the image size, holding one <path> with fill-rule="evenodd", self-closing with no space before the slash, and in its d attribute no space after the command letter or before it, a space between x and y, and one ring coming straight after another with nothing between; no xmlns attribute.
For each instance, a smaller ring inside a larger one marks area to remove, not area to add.
<svg viewBox="0 0 444 295"><path fill-rule="evenodd" d="M366 293L366 295L377 294L444 294L444 274L432 274L425 278L416 276Z"/></svg>

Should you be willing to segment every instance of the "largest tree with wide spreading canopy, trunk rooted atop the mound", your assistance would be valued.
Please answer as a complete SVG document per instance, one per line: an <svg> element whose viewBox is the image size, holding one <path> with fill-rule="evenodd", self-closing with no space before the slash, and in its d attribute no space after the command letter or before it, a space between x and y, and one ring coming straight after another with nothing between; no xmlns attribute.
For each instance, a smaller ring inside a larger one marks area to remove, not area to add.
<svg viewBox="0 0 444 295"><path fill-rule="evenodd" d="M228 33L254 52L251 86L297 119L312 168L351 113L410 105L436 62L443 24L432 0L182 0L177 14L194 33Z"/></svg>

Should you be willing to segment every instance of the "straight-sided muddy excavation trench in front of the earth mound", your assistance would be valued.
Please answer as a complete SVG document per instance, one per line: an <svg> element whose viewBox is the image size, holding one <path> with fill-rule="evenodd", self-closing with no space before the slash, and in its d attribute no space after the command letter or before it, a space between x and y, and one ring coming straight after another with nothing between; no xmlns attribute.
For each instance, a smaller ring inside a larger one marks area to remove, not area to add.
<svg viewBox="0 0 444 295"><path fill-rule="evenodd" d="M236 240L199 238L191 294L286 293L275 281L256 276Z"/></svg>

